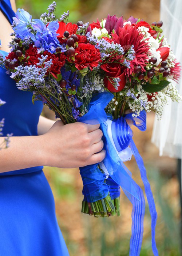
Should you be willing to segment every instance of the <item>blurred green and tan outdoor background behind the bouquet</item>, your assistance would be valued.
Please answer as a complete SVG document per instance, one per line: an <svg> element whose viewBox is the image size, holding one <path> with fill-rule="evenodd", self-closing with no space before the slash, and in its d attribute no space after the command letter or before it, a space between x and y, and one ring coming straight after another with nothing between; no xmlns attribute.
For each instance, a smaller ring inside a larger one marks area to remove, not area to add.
<svg viewBox="0 0 182 256"><path fill-rule="evenodd" d="M33 18L45 12L48 0L17 0L17 7L29 11ZM128 18L130 15L147 22L159 20L159 0L66 0L57 1L57 16L70 11L71 22L102 19L110 13ZM54 118L46 108L44 115ZM156 240L160 256L180 256L181 213L177 161L159 157L158 149L151 144L154 114L147 116L147 131L134 129L134 141L144 159L158 212ZM134 159L126 163L139 185L142 182ZM127 256L131 236L131 203L121 195L121 217L94 218L80 212L82 180L78 169L44 167L55 196L56 213L70 256ZM142 256L151 251L150 214L146 206Z"/></svg>

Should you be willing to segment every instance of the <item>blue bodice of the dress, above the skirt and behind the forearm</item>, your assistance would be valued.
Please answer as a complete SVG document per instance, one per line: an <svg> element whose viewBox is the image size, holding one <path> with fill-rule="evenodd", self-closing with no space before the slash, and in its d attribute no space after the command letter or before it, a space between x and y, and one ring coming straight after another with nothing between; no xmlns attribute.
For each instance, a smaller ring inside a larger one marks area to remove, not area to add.
<svg viewBox="0 0 182 256"><path fill-rule="evenodd" d="M4 55L6 52L0 50ZM0 67L0 99L6 103L0 107L0 120L5 118L3 134L13 133L13 136L37 135L37 124L43 104L41 101L32 103L32 93L17 89L16 83ZM11 139L10 145L11 147ZM27 145L28 147L28 145ZM40 170L42 166L31 167L23 170L6 172L5 174L20 174ZM3 175L0 174L0 175Z"/></svg>

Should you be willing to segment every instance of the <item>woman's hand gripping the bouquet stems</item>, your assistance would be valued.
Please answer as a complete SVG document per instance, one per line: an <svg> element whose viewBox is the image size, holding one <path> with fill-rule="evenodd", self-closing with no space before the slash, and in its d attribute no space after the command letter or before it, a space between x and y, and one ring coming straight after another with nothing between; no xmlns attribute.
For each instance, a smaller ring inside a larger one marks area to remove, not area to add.
<svg viewBox="0 0 182 256"><path fill-rule="evenodd" d="M74 123L51 127L41 140L43 165L74 168L101 162L105 157L99 124Z"/></svg>

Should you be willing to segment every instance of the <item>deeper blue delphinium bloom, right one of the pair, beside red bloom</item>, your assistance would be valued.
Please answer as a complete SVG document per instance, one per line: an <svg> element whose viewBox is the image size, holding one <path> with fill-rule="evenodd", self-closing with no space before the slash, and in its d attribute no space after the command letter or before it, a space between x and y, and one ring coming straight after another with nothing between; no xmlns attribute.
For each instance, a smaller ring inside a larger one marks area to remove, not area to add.
<svg viewBox="0 0 182 256"><path fill-rule="evenodd" d="M33 29L37 31L35 46L37 48L43 47L48 52L54 53L56 48L60 46L56 32L59 28L59 23L52 21L46 26L40 19L34 19L33 22Z"/></svg>

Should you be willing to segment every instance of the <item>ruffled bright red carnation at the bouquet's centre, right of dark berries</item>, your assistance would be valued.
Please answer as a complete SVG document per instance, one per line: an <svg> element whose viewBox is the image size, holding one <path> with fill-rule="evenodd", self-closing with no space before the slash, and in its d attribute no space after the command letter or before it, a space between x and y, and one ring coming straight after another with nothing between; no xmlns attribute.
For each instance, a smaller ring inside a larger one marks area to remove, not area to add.
<svg viewBox="0 0 182 256"><path fill-rule="evenodd" d="M80 43L76 48L75 55L75 67L79 70L89 67L92 71L94 67L97 67L101 59L99 49L96 49L94 45Z"/></svg>

